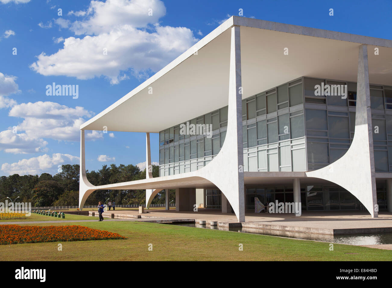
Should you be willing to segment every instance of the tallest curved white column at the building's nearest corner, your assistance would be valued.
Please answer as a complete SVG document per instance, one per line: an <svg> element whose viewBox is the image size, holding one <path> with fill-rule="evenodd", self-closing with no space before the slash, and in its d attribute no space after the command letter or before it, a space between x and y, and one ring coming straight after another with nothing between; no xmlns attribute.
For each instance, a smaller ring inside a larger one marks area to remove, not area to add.
<svg viewBox="0 0 392 288"><path fill-rule="evenodd" d="M205 167L198 170L203 177L225 195L238 222L245 222L245 194L242 147L242 94L241 92L240 27L231 28L229 107L227 132L222 149Z"/></svg>

